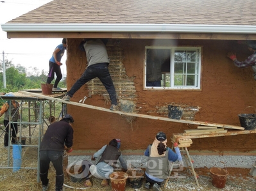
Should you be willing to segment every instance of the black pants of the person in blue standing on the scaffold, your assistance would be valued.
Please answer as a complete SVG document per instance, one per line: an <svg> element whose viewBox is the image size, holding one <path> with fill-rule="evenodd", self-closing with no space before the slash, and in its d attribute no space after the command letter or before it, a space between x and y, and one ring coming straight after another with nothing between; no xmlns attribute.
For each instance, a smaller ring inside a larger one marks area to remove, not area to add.
<svg viewBox="0 0 256 191"><path fill-rule="evenodd" d="M60 80L62 79L62 70L60 70L59 65L49 61L49 73L46 80L47 84L51 84L51 81L55 78L55 73L56 73L56 80L55 80L55 84L53 85L53 88L57 88L58 82L60 82Z"/></svg>

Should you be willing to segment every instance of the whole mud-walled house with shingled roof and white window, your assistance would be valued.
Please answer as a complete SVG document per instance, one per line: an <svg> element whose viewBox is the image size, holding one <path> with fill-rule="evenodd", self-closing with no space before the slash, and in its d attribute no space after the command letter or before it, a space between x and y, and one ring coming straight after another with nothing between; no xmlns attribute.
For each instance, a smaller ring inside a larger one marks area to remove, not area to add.
<svg viewBox="0 0 256 191"><path fill-rule="evenodd" d="M252 0L55 0L1 27L8 38L67 38L67 89L87 67L78 47L81 39L109 38L109 69L124 110L167 117L168 105L176 105L187 111L183 119L239 126L238 114L255 112L246 109L256 107L255 80L252 68L237 68L226 53L237 52L239 61L251 54L237 40L256 40L255 10ZM146 86L152 49L161 63L159 87ZM92 97L85 103L110 107L98 79L83 86L72 101L88 95ZM67 109L75 119L74 149L80 150L98 149L113 138L121 139L122 149L144 150L158 131L171 137L197 128L74 105ZM255 138L248 134L195 139L190 149L254 151Z"/></svg>

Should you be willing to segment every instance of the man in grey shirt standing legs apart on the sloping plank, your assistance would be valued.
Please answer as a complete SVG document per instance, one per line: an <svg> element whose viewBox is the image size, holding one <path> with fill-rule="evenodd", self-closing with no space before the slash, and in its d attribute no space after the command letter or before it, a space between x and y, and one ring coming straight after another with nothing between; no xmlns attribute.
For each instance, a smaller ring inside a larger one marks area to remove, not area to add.
<svg viewBox="0 0 256 191"><path fill-rule="evenodd" d="M72 88L66 93L62 100L70 101L70 98L81 88L86 82L96 77L101 80L102 84L108 91L111 100L110 110L117 111L117 98L115 87L108 72L109 59L106 49L108 39L84 39L80 43L80 49L86 52L88 67L81 75Z"/></svg>

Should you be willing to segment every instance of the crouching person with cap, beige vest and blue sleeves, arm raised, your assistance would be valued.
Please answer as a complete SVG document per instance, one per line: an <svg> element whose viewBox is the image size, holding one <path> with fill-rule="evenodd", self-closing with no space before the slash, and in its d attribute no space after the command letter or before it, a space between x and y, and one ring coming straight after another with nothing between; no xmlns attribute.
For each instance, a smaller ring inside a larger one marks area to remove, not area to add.
<svg viewBox="0 0 256 191"><path fill-rule="evenodd" d="M160 191L160 185L169 176L169 161L182 161L182 155L176 142L174 147L176 153L167 147L164 132L158 132L153 144L149 144L144 153L148 157L145 188L149 189L150 185L153 184L153 190Z"/></svg>

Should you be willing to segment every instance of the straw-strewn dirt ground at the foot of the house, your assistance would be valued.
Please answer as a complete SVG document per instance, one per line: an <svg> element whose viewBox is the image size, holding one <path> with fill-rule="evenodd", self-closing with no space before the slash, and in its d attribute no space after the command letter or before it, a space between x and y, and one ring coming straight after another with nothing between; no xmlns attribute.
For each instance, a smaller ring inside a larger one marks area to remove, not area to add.
<svg viewBox="0 0 256 191"><path fill-rule="evenodd" d="M3 148L3 144L1 144L2 155L1 158L1 167L7 164L7 151L8 149ZM12 149L10 149L12 151ZM12 155L12 153L11 153ZM22 167L25 166L36 166L37 165L37 149L35 148L22 148ZM65 171L67 167L67 155L64 155L64 174L65 174L65 187L66 191L71 190L112 190L111 183L109 181L108 187L101 187L101 180L97 178L90 178L92 181L92 188L84 187L84 180L81 183L75 183L71 180L69 174ZM10 160L10 164L12 165L12 158ZM187 169L184 171L178 172L175 174L171 174L171 178L167 183L166 188L162 188L162 190L220 190L212 185L212 177L210 173L210 169L200 168L195 169L198 174L198 183L200 187L196 185L196 181L194 180L194 176L190 174ZM241 169L241 168L227 168L228 176L226 176L225 188L221 190L256 190L255 178L250 176L248 173L250 169ZM137 188L139 190L146 190L144 188L145 179L142 179L141 188ZM55 190L55 169L53 165L50 166L49 169L49 191ZM73 187L73 188L71 188ZM0 190L9 191L9 190L21 190L21 191L30 191L30 190L42 190L41 183L37 182L37 170L36 169L20 169L17 172L13 172L12 169L0 169ZM126 188L128 191L135 191L135 188L130 186L130 180L126 181ZM152 188L150 190L153 190Z"/></svg>

